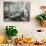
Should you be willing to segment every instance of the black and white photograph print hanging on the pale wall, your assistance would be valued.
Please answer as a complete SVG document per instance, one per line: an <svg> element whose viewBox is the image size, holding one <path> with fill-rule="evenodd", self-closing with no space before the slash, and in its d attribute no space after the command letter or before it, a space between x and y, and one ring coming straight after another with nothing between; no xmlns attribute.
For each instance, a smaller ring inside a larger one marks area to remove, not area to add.
<svg viewBox="0 0 46 46"><path fill-rule="evenodd" d="M29 21L30 2L4 2L4 21Z"/></svg>

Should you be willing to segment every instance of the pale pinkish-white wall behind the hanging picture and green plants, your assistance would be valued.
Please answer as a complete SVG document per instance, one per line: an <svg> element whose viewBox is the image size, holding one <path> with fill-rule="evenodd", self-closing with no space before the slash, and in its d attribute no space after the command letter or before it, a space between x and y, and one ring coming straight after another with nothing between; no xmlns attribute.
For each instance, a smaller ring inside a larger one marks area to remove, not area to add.
<svg viewBox="0 0 46 46"><path fill-rule="evenodd" d="M3 2L4 0L0 1L0 33L1 34L4 33L4 28L6 25L16 26L19 31L18 33L19 36L21 36L21 34L23 34L24 36L31 36L31 34L36 33L36 29L46 30L46 28L40 27L35 19L36 15L41 13L40 6L46 5L46 0L31 0L30 1L31 8L30 8L30 21L29 22L4 22L3 21L3 16L4 16L3 15Z"/></svg>

